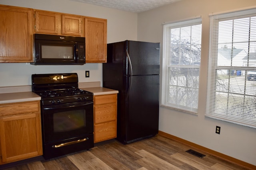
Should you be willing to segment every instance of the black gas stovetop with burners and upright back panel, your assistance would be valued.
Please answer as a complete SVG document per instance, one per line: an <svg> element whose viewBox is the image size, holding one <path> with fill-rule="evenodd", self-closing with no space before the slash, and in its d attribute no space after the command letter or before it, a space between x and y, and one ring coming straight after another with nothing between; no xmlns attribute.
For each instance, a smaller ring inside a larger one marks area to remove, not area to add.
<svg viewBox="0 0 256 170"><path fill-rule="evenodd" d="M93 100L93 93L78 88L76 73L32 74L32 92L41 96L43 106Z"/></svg>

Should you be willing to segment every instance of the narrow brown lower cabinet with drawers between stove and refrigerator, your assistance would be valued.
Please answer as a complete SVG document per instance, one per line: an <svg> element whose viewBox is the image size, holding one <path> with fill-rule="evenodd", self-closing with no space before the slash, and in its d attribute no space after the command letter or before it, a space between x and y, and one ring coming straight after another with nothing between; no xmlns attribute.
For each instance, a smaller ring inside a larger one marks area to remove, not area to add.
<svg viewBox="0 0 256 170"><path fill-rule="evenodd" d="M94 143L116 138L117 94L94 96Z"/></svg>

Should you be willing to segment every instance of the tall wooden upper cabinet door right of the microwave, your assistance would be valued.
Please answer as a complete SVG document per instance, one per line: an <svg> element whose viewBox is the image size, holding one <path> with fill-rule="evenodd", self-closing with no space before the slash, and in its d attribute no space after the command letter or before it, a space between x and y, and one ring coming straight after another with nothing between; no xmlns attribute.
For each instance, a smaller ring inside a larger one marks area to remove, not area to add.
<svg viewBox="0 0 256 170"><path fill-rule="evenodd" d="M107 20L85 18L86 63L107 62Z"/></svg>

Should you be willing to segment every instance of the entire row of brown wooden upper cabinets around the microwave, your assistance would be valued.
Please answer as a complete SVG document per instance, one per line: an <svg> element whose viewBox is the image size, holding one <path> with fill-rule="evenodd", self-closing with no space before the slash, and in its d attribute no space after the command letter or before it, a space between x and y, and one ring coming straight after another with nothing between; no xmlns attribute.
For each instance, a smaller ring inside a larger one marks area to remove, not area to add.
<svg viewBox="0 0 256 170"><path fill-rule="evenodd" d="M0 33L0 63L33 62L33 33L85 37L86 63L107 62L106 19L0 5Z"/></svg>

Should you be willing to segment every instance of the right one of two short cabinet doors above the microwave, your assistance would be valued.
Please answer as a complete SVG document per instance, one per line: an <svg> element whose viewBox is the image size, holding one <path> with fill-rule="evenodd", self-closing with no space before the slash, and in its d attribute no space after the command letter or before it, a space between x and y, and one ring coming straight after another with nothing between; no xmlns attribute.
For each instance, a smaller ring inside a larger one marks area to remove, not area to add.
<svg viewBox="0 0 256 170"><path fill-rule="evenodd" d="M61 33L82 36L82 16L62 15Z"/></svg>

